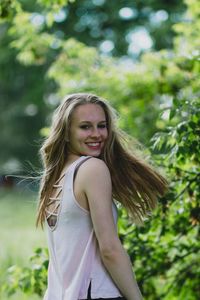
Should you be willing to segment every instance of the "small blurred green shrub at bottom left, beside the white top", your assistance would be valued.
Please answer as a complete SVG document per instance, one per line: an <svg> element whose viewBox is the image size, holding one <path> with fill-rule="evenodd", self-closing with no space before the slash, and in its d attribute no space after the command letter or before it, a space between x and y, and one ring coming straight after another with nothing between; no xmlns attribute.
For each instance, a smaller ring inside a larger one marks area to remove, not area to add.
<svg viewBox="0 0 200 300"><path fill-rule="evenodd" d="M42 296L47 283L48 251L38 248L30 258L30 267L11 266L8 269L7 283L3 285L8 296L18 290L26 294Z"/></svg>

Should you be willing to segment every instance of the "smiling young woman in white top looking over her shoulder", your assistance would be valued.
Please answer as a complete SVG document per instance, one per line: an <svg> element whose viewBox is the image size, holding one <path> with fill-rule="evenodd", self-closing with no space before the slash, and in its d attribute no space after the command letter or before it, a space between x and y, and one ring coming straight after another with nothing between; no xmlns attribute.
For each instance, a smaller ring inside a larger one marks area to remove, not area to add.
<svg viewBox="0 0 200 300"><path fill-rule="evenodd" d="M41 148L37 217L48 232L45 300L142 299L114 201L142 222L167 183L126 149L115 121L110 105L92 94L66 97L54 114Z"/></svg>

